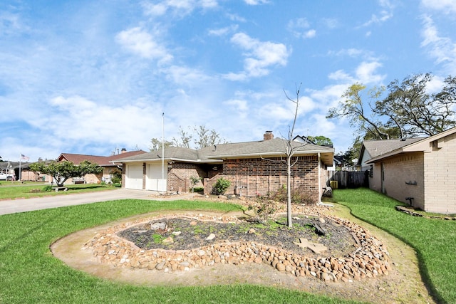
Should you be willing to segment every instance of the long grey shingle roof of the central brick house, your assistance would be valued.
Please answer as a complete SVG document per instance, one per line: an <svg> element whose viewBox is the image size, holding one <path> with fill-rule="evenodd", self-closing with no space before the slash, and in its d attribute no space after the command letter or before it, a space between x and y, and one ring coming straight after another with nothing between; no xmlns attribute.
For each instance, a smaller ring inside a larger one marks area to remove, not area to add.
<svg viewBox="0 0 456 304"><path fill-rule="evenodd" d="M237 142L204 147L193 150L183 147L165 148L165 159L185 162L220 163L222 159L256 158L256 157L280 157L285 155L287 140L274 138L256 142ZM294 155L325 154L323 162L332 165L334 149L301 142L291 142L295 149ZM162 151L140 154L133 157L117 159L117 162L156 161L161 159Z"/></svg>

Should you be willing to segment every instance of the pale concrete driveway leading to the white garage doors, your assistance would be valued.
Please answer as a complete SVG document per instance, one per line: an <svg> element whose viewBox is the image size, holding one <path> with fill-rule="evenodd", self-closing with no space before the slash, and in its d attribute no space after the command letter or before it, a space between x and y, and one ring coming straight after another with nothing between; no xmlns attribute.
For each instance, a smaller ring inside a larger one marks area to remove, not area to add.
<svg viewBox="0 0 456 304"><path fill-rule="evenodd" d="M7 199L0 201L0 215L18 212L50 209L61 206L90 204L98 201L114 201L116 199L154 199L155 192L145 190L115 189L102 192L81 194L64 194L57 196L37 197L34 199Z"/></svg>

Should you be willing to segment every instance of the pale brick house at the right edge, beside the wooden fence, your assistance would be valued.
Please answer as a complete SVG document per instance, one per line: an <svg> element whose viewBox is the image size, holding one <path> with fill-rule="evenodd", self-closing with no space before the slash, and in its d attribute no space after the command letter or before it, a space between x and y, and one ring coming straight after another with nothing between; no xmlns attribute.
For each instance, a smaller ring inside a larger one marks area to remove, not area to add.
<svg viewBox="0 0 456 304"><path fill-rule="evenodd" d="M424 211L456 213L456 128L405 141L363 142L360 162L371 170L371 189Z"/></svg>

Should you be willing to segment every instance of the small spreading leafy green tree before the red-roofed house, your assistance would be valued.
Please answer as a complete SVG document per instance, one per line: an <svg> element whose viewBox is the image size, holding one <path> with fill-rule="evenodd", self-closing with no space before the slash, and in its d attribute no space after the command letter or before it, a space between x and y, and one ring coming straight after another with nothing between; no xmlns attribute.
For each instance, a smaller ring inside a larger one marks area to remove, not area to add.
<svg viewBox="0 0 456 304"><path fill-rule="evenodd" d="M35 162L30 164L30 169L34 172L51 175L53 180L56 181L58 187L63 187L66 180L72 177L83 177L86 174L100 174L103 172L103 167L89 162L88 160L84 160L79 165L67 161L54 161L49 164L45 164L44 162Z"/></svg>

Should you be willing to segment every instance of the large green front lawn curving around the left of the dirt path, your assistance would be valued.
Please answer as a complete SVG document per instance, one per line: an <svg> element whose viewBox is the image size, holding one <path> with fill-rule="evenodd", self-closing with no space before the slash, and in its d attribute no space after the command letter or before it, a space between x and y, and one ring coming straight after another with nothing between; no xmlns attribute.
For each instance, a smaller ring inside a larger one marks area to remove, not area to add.
<svg viewBox="0 0 456 304"><path fill-rule="evenodd" d="M53 241L73 231L135 214L234 209L239 206L119 200L0 216L0 303L355 303L257 285L145 288L113 283L73 270L49 250Z"/></svg>

